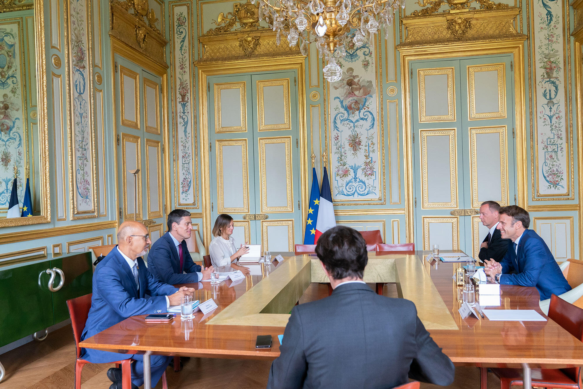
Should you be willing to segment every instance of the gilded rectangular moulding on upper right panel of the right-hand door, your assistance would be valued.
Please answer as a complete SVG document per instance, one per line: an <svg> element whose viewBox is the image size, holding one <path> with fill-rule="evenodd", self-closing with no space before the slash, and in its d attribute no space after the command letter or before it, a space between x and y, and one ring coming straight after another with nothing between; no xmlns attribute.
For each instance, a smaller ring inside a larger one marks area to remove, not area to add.
<svg viewBox="0 0 583 389"><path fill-rule="evenodd" d="M505 83L505 65L491 64L491 65L477 65L468 66L468 104L469 104L469 120L481 119L505 119L506 117L506 83ZM498 110L496 112L483 112L479 107L476 107L476 93L480 93L480 86L475 85L476 74L479 72L496 71L498 74ZM477 88L476 88L477 86ZM480 111L480 112L477 112Z"/></svg>

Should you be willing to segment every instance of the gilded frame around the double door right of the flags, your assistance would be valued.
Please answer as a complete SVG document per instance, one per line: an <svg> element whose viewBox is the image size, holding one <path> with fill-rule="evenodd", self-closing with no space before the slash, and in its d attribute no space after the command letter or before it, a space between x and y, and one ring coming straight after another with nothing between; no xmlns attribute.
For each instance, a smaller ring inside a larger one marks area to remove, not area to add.
<svg viewBox="0 0 583 389"><path fill-rule="evenodd" d="M526 166L526 122L525 122L525 84L524 84L524 41L522 37L510 40L481 42L459 42L432 44L429 46L399 48L401 53L401 86L403 91L403 135L405 158L405 236L408 242L415 238L413 197L413 144L412 144L412 107L410 62L428 59L469 57L472 55L512 54L514 55L514 123L516 130L517 193L518 205L527 209L527 166Z"/></svg>

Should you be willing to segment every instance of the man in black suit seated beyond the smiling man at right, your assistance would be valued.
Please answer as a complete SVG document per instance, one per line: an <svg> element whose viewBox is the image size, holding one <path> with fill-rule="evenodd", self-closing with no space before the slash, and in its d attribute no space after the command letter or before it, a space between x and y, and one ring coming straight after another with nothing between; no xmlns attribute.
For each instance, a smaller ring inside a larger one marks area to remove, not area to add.
<svg viewBox="0 0 583 389"><path fill-rule="evenodd" d="M489 230L488 235L480 245L480 252L478 254L478 258L482 262L490 259L500 262L508 249L509 240L502 239L500 230L496 228L500 208L500 204L491 200L483 202L482 206L480 206L480 221Z"/></svg>

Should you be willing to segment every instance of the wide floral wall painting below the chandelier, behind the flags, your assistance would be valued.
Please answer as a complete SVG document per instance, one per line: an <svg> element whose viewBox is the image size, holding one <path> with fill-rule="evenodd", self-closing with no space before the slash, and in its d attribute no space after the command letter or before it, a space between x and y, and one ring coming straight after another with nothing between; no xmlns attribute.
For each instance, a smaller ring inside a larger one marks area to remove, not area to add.
<svg viewBox="0 0 583 389"><path fill-rule="evenodd" d="M374 42L374 40L373 40ZM338 61L342 78L330 84L333 200L380 199L377 79L374 43L352 39Z"/></svg>

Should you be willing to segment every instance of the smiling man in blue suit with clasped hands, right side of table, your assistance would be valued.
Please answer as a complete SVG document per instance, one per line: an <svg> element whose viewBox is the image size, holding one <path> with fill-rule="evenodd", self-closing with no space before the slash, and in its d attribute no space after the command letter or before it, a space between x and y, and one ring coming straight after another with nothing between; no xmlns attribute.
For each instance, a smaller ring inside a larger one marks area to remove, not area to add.
<svg viewBox="0 0 583 389"><path fill-rule="evenodd" d="M518 206L504 207L498 220L502 238L510 239L510 243L500 263L493 259L486 261L487 275L500 284L536 286L540 300L571 290L543 238L528 229L531 217L526 210Z"/></svg>

